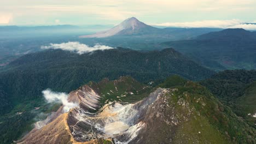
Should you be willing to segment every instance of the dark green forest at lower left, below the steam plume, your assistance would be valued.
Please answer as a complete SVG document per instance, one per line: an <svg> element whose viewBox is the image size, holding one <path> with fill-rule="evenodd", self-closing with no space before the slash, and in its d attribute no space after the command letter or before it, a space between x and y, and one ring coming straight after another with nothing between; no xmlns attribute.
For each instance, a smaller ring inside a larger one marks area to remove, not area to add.
<svg viewBox="0 0 256 144"><path fill-rule="evenodd" d="M0 116L0 141L11 143L21 139L33 129L33 124L45 119L50 112L57 111L60 104L46 104L43 98L24 101Z"/></svg>

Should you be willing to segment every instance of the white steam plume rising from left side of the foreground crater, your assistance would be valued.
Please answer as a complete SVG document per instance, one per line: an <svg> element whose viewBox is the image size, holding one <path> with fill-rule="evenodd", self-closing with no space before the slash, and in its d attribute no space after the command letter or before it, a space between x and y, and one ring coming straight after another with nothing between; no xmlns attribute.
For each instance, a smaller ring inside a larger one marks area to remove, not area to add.
<svg viewBox="0 0 256 144"><path fill-rule="evenodd" d="M57 92L51 91L50 89L46 89L42 91L42 93L48 103L53 103L53 102L62 103L64 112L68 112L73 107L78 106L78 104L68 101L68 94L66 93L57 93Z"/></svg>

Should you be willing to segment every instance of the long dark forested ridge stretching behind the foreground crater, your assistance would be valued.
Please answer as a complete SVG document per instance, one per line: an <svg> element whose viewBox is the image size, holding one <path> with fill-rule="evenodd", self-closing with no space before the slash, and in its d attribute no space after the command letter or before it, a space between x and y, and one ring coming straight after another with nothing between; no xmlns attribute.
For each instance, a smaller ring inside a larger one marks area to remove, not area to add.
<svg viewBox="0 0 256 144"><path fill-rule="evenodd" d="M22 56L10 63L0 73L0 80L6 93L2 96L7 99L3 105L6 107L8 101L15 105L19 101L39 98L46 88L69 92L91 80L100 81L104 77L113 80L130 75L141 82L148 82L165 79L172 74L200 80L210 77L214 72L173 49L139 52L119 48L83 55L46 50Z"/></svg>

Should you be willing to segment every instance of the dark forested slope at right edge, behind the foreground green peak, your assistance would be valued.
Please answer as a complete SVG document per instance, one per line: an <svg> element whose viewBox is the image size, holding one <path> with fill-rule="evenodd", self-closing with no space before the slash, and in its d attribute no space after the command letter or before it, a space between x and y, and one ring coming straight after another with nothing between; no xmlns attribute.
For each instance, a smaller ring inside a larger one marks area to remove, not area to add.
<svg viewBox="0 0 256 144"><path fill-rule="evenodd" d="M224 104L252 125L256 118L256 70L225 70L201 81ZM255 125L254 125L255 127Z"/></svg>

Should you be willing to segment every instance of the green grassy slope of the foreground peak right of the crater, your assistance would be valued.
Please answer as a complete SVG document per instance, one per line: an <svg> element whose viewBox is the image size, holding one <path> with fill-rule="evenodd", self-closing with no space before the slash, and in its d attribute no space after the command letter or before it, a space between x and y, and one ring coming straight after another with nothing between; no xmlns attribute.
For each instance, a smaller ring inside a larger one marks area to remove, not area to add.
<svg viewBox="0 0 256 144"><path fill-rule="evenodd" d="M245 120L237 117L228 106L220 103L207 88L188 81L184 86L172 87L172 91L169 103L176 107L176 115L181 116L181 119L188 117L188 121L183 121L184 124L178 126L174 141L182 143L195 141L205 143L207 140L212 140L213 143L255 142L256 130ZM181 137L185 138L179 139Z"/></svg>

